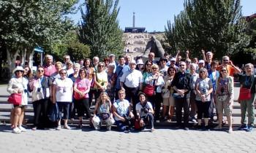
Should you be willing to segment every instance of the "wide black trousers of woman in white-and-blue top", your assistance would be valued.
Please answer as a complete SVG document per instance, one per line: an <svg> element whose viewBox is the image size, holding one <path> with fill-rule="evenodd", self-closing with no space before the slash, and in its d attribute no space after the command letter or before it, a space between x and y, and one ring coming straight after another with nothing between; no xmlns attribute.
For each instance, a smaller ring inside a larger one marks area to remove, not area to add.
<svg viewBox="0 0 256 153"><path fill-rule="evenodd" d="M48 98L33 102L34 126L46 127L48 124Z"/></svg>

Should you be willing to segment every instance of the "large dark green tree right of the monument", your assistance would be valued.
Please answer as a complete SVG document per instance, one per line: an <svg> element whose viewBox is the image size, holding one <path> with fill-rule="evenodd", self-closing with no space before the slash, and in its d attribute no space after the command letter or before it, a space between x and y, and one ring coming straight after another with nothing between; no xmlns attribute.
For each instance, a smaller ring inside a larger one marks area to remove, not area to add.
<svg viewBox="0 0 256 153"><path fill-rule="evenodd" d="M202 48L214 52L215 58L240 52L249 43L244 33L246 21L241 16L240 0L186 0L171 24L167 21L167 42L178 50Z"/></svg>

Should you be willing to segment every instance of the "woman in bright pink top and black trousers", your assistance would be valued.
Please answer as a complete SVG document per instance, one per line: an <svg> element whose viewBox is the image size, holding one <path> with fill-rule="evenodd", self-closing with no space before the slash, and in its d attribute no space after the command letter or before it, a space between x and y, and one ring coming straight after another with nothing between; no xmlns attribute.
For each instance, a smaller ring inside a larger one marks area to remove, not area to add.
<svg viewBox="0 0 256 153"><path fill-rule="evenodd" d="M78 109L78 118L79 125L83 125L83 114L86 111L86 118L90 118L89 110L89 91L90 91L91 82L89 79L86 79L86 71L84 69L79 70L79 78L75 80L74 84L74 103L75 108Z"/></svg>

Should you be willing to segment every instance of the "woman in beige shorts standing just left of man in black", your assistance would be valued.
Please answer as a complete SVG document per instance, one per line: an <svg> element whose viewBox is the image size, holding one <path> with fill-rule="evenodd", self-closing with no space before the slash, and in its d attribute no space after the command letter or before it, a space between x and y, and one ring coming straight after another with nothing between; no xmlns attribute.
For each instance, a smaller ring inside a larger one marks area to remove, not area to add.
<svg viewBox="0 0 256 153"><path fill-rule="evenodd" d="M173 81L173 77L175 74L176 74L176 68L174 68L173 66L170 66L167 69L167 75L164 77L165 88L162 89L162 99L163 99L162 117L164 117L165 120L167 119L167 122L171 121L174 114L175 103L173 100L173 96L170 94L172 93L170 84ZM164 96L165 93L169 93L168 94L169 96L166 98ZM166 117L166 114L168 114L167 117Z"/></svg>

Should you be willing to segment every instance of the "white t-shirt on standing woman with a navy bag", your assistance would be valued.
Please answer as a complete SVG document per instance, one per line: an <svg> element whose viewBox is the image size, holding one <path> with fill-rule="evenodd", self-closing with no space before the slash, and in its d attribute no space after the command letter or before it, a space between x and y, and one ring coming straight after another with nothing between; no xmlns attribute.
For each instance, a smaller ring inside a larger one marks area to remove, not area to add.
<svg viewBox="0 0 256 153"><path fill-rule="evenodd" d="M53 82L56 85L56 101L57 102L72 102L72 79L56 78Z"/></svg>

